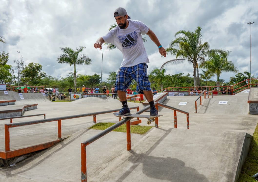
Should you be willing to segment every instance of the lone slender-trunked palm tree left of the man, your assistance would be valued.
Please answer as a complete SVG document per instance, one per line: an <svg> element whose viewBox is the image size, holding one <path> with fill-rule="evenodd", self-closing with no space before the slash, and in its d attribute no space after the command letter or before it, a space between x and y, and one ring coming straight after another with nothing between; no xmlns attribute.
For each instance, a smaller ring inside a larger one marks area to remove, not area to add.
<svg viewBox="0 0 258 182"><path fill-rule="evenodd" d="M76 48L76 50L73 50L69 47L59 47L65 54L61 54L57 58L57 62L60 64L69 64L70 66L74 65L74 90L76 91L76 65L90 65L91 59L88 57L88 55L82 54L79 55L83 51L85 47L80 46L79 48Z"/></svg>

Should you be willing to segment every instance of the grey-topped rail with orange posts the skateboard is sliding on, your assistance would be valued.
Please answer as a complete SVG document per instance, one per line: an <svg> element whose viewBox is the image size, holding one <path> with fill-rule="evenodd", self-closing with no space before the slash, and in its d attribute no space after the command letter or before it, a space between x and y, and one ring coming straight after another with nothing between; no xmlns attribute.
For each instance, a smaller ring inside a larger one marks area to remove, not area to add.
<svg viewBox="0 0 258 182"><path fill-rule="evenodd" d="M165 107L168 109L174 110L174 128L177 128L177 120L176 120L176 111L181 112L183 114L186 114L186 120L187 120L187 129L189 129L189 113L185 112L180 109L176 109L171 106L167 106L163 103L155 102L154 103L155 108L158 110L158 106ZM144 107L142 110L134 113L134 114L141 114L142 112L148 110L150 106ZM131 109L131 108L130 108ZM109 132L113 131L114 129L118 128L119 126L126 123L126 144L127 144L127 150L131 150L131 127L130 127L130 119L132 118L126 118L121 120L120 122L110 126L109 128L105 129L104 131L100 132L99 134L91 137L90 139L86 140L85 142L81 143L81 178L82 182L87 182L87 167L86 167L86 146L91 144L92 142L98 140L102 136L108 134ZM158 117L155 118L155 127L158 127Z"/></svg>

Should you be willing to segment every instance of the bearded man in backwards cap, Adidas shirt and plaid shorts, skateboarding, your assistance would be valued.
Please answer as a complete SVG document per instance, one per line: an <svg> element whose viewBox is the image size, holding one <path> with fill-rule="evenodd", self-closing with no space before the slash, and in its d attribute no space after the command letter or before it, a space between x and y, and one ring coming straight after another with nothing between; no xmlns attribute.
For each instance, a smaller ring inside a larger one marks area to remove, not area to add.
<svg viewBox="0 0 258 182"><path fill-rule="evenodd" d="M123 61L116 75L115 91L122 102L118 116L131 114L126 100L126 89L134 79L137 82L136 91L143 93L150 104L150 118L158 116L154 106L150 82L147 76L147 63L149 59L143 45L142 35L147 34L157 45L159 53L166 57L166 51L159 43L158 38L144 23L137 20L128 20L130 16L124 8L119 7L114 11L118 26L110 30L105 36L100 37L94 48L102 49L104 42L114 44L123 54Z"/></svg>

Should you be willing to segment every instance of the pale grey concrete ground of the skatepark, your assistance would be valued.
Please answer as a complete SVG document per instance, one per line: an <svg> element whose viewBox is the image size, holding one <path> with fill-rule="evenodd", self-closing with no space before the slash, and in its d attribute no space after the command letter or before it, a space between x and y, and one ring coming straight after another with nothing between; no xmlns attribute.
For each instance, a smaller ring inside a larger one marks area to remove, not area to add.
<svg viewBox="0 0 258 182"><path fill-rule="evenodd" d="M244 142L250 140L258 119L257 115L248 114L245 91L234 96L203 98L202 106L198 100L197 113L198 96L168 97L164 104L189 112L190 129L185 114L177 112L178 128L174 129L173 110L159 107L159 114L163 115L159 117L159 128L153 127L145 135L131 134L130 151L126 150L126 133L118 132L110 132L87 146L87 181L236 181ZM46 118L56 118L121 108L121 103L111 98L51 102L28 94L23 94L27 99L19 100L19 104L37 103L38 109L24 115L46 113ZM228 103L220 105L219 101ZM180 102L187 104L179 106ZM139 103L128 105L143 108ZM131 110L131 114L134 112ZM42 116L17 118L13 123L38 119ZM119 121L112 113L97 115L96 120ZM0 120L2 151L6 123L10 120ZM65 140L12 167L0 168L0 181L80 181L80 143L101 132L88 129L92 125L92 116L62 120ZM140 125L147 126L147 119L142 119ZM11 150L57 139L57 122L10 130Z"/></svg>

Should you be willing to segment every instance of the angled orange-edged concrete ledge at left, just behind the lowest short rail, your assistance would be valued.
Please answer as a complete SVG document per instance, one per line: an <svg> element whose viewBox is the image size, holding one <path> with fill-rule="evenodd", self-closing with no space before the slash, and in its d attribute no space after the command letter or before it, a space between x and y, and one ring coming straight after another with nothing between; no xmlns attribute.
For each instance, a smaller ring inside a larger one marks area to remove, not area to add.
<svg viewBox="0 0 258 182"><path fill-rule="evenodd" d="M28 110L37 109L38 104L29 104L29 105L15 105L15 108L10 107L0 111L0 118L12 117L12 116L22 116L23 112Z"/></svg>

